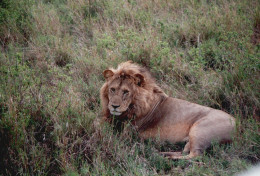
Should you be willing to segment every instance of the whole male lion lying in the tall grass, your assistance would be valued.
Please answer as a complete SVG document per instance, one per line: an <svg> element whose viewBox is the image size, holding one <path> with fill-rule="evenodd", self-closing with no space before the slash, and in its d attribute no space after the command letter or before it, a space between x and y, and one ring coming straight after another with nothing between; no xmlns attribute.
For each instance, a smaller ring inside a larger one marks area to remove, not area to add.
<svg viewBox="0 0 260 176"><path fill-rule="evenodd" d="M172 159L202 155L213 141L231 141L235 119L224 111L167 96L149 71L131 61L103 72L100 90L103 121L128 119L143 138L187 141L183 153L162 152Z"/></svg>

